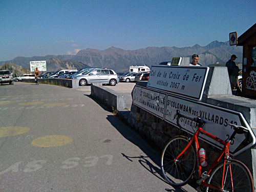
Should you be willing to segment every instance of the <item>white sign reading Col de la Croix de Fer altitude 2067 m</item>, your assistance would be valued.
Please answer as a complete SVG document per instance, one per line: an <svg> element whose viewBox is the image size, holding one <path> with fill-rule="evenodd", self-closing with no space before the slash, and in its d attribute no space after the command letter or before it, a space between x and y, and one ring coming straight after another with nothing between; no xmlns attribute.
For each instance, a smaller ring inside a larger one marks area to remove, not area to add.
<svg viewBox="0 0 256 192"><path fill-rule="evenodd" d="M152 66L147 87L201 100L208 71L208 67Z"/></svg>

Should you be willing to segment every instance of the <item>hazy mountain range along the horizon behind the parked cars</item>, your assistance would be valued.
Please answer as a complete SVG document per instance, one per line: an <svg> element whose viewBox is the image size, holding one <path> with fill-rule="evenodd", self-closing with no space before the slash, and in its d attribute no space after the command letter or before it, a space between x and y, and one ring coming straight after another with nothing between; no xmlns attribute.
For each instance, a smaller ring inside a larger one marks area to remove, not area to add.
<svg viewBox="0 0 256 192"><path fill-rule="evenodd" d="M30 69L29 61L46 60L47 71L59 69L80 69L86 67L101 67L114 69L116 72L129 71L130 66L158 65L162 61L171 61L173 57L189 57L199 54L202 66L214 63L225 64L232 54L236 54L236 62L242 62L242 47L229 46L229 41L212 41L207 46L193 47L147 47L138 50L123 50L111 47L106 50L85 49L76 55L46 55L33 57L15 57L9 61L0 61L0 65L7 62ZM191 60L191 59L190 59Z"/></svg>

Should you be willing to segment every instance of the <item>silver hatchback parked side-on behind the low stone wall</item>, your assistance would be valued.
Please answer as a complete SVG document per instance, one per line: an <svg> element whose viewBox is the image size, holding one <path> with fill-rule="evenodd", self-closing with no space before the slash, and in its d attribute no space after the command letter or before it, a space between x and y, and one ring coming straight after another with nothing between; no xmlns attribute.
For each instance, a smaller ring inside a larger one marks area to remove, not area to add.
<svg viewBox="0 0 256 192"><path fill-rule="evenodd" d="M100 82L115 86L119 82L119 76L111 69L95 69L87 74L74 77L78 80L79 86L86 86L93 82Z"/></svg>

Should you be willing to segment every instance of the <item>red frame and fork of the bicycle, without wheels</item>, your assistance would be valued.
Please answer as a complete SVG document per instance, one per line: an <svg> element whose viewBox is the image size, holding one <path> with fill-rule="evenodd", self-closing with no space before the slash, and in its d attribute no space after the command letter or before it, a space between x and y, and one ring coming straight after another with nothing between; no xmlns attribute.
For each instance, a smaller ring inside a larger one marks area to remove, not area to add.
<svg viewBox="0 0 256 192"><path fill-rule="evenodd" d="M229 151L228 151L228 146L230 145L230 140L228 141L223 141L222 139L204 131L202 129L202 127L198 127L198 130L196 131L196 133L193 135L192 139L190 139L189 143L187 144L187 146L184 148L184 150L178 155L178 157L175 158L175 160L177 160L183 153L186 152L186 150L188 149L188 147L192 144L192 142L194 141L195 142L195 148L196 148L196 156L197 156L197 164L198 164L198 170L199 170L199 180L202 179L202 173L201 173L201 170L202 170L202 166L200 164L200 161L199 161L199 155L198 155L198 149L200 148L199 146L199 141L198 141L198 136L199 134L203 134L211 139L214 139L215 141L219 142L220 144L224 145L223 148L222 148L222 151L220 152L220 154L218 155L218 157L215 159L214 163L211 164L210 168L208 169L207 171L207 175L209 175L212 171L212 169L214 169L214 167L218 164L218 162L221 160L222 156L225 154L224 156L224 169L223 169L223 177L222 177L222 188L223 188L223 183L224 183L224 174L225 174L225 165L226 165L226 161L229 159ZM190 151L190 149L189 149ZM186 153L187 154L187 153ZM185 156L186 156L185 154ZM230 167L231 168L231 167ZM231 172L231 169L230 169L230 172ZM231 174L231 173L230 173ZM232 174L231 174L232 175ZM210 187L210 188L214 188L214 189L218 189L218 190L221 190L220 187L217 187L215 185L212 185L212 184L208 184L207 182L205 182L207 178L205 178L200 185L203 185L203 186L206 186L206 187ZM231 178L232 180L232 178Z"/></svg>

